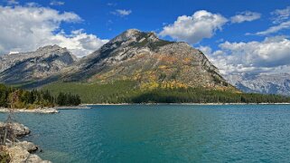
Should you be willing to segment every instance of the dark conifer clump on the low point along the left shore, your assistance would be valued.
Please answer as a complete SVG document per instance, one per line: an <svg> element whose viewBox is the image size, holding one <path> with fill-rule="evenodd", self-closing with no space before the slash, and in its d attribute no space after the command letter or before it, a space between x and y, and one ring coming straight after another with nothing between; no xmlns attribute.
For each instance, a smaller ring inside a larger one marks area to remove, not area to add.
<svg viewBox="0 0 290 163"><path fill-rule="evenodd" d="M76 106L80 97L70 93L60 93L53 97L49 91L24 91L0 84L0 107L35 109L43 107Z"/></svg>

